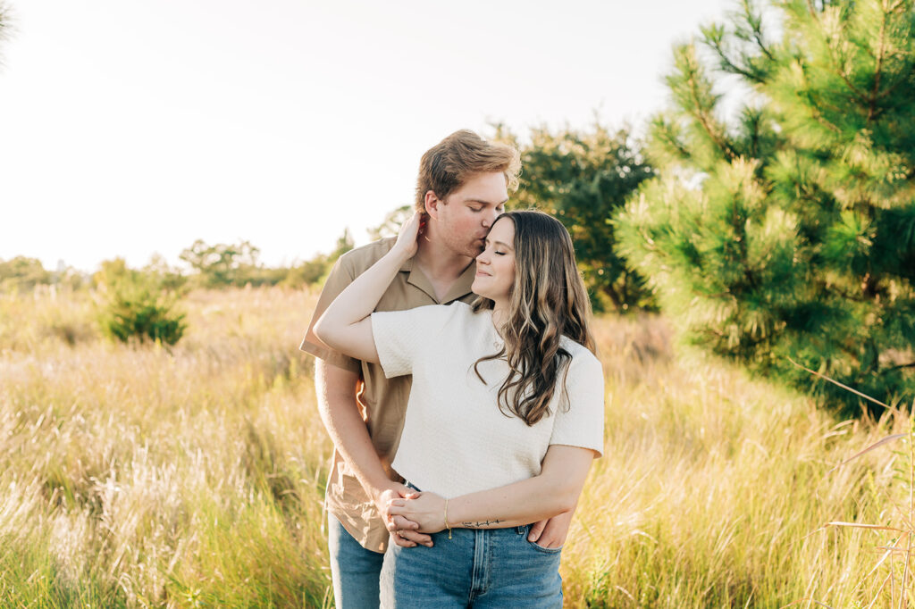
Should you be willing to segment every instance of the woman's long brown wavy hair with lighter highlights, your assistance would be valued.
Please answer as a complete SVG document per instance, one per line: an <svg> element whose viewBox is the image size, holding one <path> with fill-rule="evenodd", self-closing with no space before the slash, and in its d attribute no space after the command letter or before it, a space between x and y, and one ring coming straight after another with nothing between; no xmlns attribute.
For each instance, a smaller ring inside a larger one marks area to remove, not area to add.
<svg viewBox="0 0 915 609"><path fill-rule="evenodd" d="M597 351L588 328L591 305L576 266L572 238L559 220L528 209L509 211L496 219L504 221L511 221L515 228L514 283L508 319L501 327L504 346L498 353L479 358L473 369L485 383L479 364L507 360L510 371L499 390L499 408L507 416L515 414L533 425L550 414L559 371L572 359L560 347L560 339L569 337L592 353ZM489 298L480 296L473 310L492 306ZM567 373L565 366L564 394Z"/></svg>

